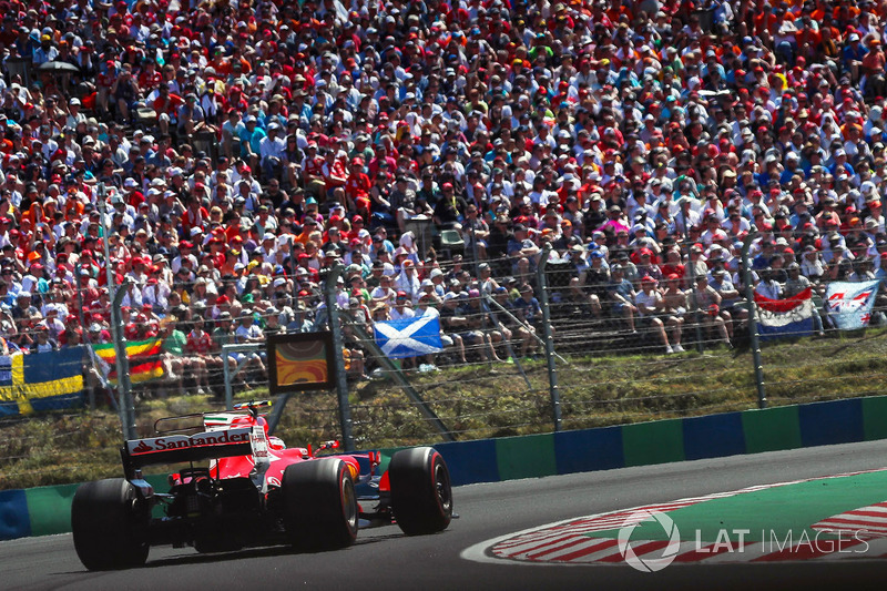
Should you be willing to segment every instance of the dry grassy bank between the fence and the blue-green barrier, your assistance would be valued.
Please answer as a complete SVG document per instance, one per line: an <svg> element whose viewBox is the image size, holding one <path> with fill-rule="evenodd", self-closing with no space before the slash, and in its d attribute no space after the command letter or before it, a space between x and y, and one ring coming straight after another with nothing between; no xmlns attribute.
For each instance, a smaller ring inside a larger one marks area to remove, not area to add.
<svg viewBox="0 0 887 591"><path fill-rule="evenodd" d="M771 406L883 394L887 332L763 348ZM558 364L563 427L580 429L755 408L752 356L726 349L662 355L572 356ZM472 365L412 374L410 383L457 439L553 430L547 364ZM254 390L236 398L259 399ZM406 394L390 381L353 386L354 435L359 448L440 441ZM144 400L136 409L141 436L156 419L220 410L207 396ZM294 395L276 435L290 446L340 437L333 393ZM82 482L121 473L118 415L108 410L48 414L0 425L0 490ZM157 471L163 471L159 467Z"/></svg>

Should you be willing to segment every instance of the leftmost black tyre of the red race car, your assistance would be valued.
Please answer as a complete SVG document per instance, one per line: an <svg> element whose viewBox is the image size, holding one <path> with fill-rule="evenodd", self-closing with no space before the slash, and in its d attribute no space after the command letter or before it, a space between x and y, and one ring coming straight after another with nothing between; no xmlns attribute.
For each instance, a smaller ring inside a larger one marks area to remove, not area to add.
<svg viewBox="0 0 887 591"><path fill-rule="evenodd" d="M71 503L74 549L89 570L141 567L150 549L147 505L123 478L81 485Z"/></svg>

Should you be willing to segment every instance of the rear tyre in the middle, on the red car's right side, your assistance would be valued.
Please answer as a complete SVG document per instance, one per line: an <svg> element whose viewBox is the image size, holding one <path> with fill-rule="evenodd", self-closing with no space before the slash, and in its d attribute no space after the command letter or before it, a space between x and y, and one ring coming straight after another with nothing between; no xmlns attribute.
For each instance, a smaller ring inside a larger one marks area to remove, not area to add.
<svg viewBox="0 0 887 591"><path fill-rule="evenodd" d="M302 461L284 472L284 526L294 547L335 550L357 538L357 495L340 459Z"/></svg>

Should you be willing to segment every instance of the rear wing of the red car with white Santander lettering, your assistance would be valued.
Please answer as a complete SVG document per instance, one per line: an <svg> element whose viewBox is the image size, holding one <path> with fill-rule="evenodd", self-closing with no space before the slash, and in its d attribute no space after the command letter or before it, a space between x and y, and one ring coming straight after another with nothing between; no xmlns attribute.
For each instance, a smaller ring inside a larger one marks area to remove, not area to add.
<svg viewBox="0 0 887 591"><path fill-rule="evenodd" d="M179 463L211 458L230 458L253 454L252 427L206 431L192 436L170 435L149 439L132 439L121 449L128 478L143 466Z"/></svg>

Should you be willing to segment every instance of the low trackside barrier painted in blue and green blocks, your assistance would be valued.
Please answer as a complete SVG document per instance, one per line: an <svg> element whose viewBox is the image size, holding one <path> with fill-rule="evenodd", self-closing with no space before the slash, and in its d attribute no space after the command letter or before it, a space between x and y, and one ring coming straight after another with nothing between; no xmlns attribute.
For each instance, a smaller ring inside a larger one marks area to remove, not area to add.
<svg viewBox="0 0 887 591"><path fill-rule="evenodd" d="M435 447L459 486L877 439L887 439L887 396ZM383 450L383 470L397 449ZM147 480L163 490L166 478ZM70 531L75 489L0 491L0 540Z"/></svg>

